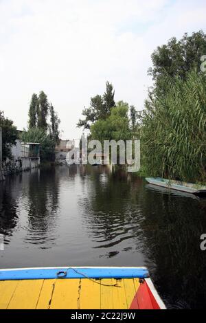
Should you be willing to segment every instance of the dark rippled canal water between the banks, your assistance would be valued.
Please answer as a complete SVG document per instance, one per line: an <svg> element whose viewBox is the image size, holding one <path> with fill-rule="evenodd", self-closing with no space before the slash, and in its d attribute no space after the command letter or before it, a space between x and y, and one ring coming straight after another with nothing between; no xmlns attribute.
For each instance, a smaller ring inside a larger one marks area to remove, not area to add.
<svg viewBox="0 0 206 323"><path fill-rule="evenodd" d="M0 267L146 266L168 308L206 307L206 203L106 166L0 183Z"/></svg>

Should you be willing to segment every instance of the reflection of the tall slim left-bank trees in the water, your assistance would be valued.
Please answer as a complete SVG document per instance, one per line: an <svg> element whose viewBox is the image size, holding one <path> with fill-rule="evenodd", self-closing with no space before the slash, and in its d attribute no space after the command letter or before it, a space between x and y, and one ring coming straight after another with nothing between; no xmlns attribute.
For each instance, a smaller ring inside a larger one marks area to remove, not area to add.
<svg viewBox="0 0 206 323"><path fill-rule="evenodd" d="M58 216L58 181L56 169L38 170L30 177L27 185L27 236L25 240L32 244L44 244L54 241L53 232ZM44 248L52 247L49 243Z"/></svg>

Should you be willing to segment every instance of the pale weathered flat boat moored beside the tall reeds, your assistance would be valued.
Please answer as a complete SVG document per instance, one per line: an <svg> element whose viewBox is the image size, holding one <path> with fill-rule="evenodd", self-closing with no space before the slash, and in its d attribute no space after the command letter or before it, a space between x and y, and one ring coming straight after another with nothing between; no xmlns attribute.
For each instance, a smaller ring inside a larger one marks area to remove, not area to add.
<svg viewBox="0 0 206 323"><path fill-rule="evenodd" d="M146 178L146 181L152 185L161 186L163 188L171 188L172 190L192 193L199 197L206 197L206 186L185 183L183 181L172 181L170 179L163 179L161 177L148 177Z"/></svg>

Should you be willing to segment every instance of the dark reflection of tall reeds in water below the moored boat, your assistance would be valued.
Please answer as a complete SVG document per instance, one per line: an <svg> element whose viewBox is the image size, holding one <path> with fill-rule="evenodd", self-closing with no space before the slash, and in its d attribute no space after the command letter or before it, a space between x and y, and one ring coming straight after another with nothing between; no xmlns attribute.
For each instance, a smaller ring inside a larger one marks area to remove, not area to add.
<svg viewBox="0 0 206 323"><path fill-rule="evenodd" d="M200 236L206 232L204 202L152 190L143 190L139 199L145 216L141 227L146 237L146 265L168 307L203 308L206 254L200 249Z"/></svg>

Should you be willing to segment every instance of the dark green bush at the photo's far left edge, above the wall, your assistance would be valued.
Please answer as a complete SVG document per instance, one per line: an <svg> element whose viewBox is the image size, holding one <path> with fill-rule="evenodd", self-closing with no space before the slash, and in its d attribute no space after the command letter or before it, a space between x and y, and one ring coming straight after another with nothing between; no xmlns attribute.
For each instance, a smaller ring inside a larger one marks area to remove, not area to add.
<svg viewBox="0 0 206 323"><path fill-rule="evenodd" d="M16 144L17 129L14 122L5 118L3 111L0 111L0 127L2 128L2 158L3 161L11 157L10 148Z"/></svg>

